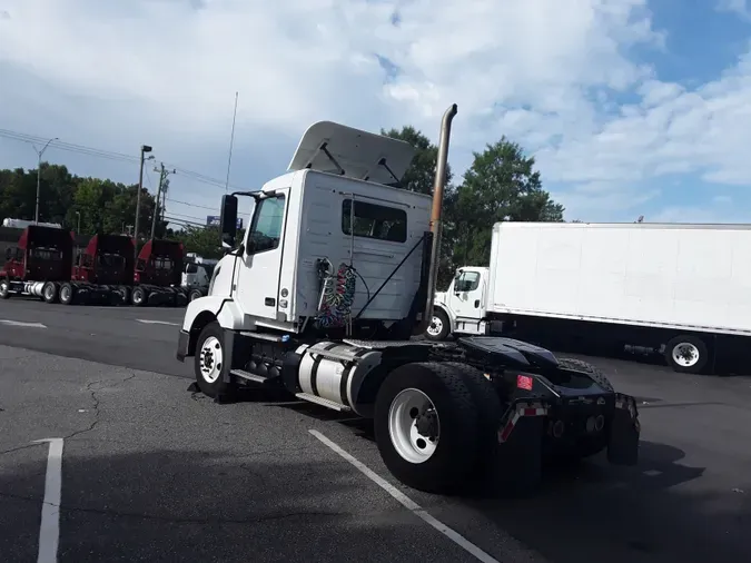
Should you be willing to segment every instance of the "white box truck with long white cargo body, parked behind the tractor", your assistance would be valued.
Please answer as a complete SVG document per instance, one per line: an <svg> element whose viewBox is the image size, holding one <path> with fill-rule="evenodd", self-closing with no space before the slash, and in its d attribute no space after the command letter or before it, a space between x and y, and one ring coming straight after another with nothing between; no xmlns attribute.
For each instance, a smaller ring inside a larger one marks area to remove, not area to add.
<svg viewBox="0 0 751 563"><path fill-rule="evenodd" d="M749 249L739 225L497 223L490 267L460 268L436 293L425 335L565 335L713 372L748 348Z"/></svg>

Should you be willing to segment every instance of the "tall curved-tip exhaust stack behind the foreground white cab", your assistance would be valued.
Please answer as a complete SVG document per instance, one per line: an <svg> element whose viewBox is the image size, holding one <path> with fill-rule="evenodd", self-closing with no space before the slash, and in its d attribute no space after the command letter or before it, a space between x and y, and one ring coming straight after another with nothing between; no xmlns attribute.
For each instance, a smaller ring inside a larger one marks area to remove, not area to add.
<svg viewBox="0 0 751 563"><path fill-rule="evenodd" d="M433 247L431 250L431 269L427 276L427 296L423 320L415 328L415 335L423 334L433 319L433 300L435 298L435 285L438 278L438 263L441 259L441 216L443 213L443 194L446 187L446 165L448 164L448 141L451 139L451 122L456 116L456 103L446 110L441 121L441 139L438 141L438 160L435 166L435 182L433 185L433 209L431 211L431 233L433 233Z"/></svg>

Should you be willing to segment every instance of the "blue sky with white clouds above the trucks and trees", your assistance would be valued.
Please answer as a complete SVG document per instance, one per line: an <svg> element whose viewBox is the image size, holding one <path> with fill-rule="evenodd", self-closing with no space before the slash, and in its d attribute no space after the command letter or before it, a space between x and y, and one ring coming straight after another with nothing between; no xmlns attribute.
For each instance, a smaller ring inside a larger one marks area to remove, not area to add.
<svg viewBox="0 0 751 563"><path fill-rule="evenodd" d="M567 219L749 223L750 14L745 0L0 0L0 129L152 145L178 167L168 211L199 221L224 192L235 91L243 187L284 171L313 121L435 139L456 102L454 169L506 135ZM0 136L0 167L36 158Z"/></svg>

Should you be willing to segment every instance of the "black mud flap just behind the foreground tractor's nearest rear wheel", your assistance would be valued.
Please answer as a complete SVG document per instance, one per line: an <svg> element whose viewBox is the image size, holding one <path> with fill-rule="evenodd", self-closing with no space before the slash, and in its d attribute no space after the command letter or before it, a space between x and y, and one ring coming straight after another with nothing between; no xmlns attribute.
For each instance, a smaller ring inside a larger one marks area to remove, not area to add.
<svg viewBox="0 0 751 563"><path fill-rule="evenodd" d="M496 442L486 465L486 487L492 495L526 495L542 480L544 416L524 416L505 442ZM501 431L500 431L501 432Z"/></svg>

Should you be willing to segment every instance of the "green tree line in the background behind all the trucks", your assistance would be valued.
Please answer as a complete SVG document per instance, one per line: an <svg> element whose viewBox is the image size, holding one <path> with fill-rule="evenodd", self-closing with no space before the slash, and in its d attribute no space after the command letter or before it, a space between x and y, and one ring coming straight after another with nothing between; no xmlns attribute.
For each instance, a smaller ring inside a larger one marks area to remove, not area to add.
<svg viewBox="0 0 751 563"><path fill-rule="evenodd" d="M433 192L437 147L412 126L382 130L416 148L402 187L421 194ZM446 284L462 265L484 266L490 261L493 225L502 220L562 221L563 206L543 189L535 160L505 137L474 152L474 160L460 184L447 169L444 229L441 253L441 284ZM42 164L39 218L60 223L81 234L132 233L137 185L71 175L65 166ZM37 170L0 170L0 218L32 219ZM219 207L217 196L217 208ZM139 239L148 238L154 214L161 208L146 188L141 192ZM79 229L80 220L80 229ZM157 237L181 240L187 251L218 258L217 228L157 221Z"/></svg>

